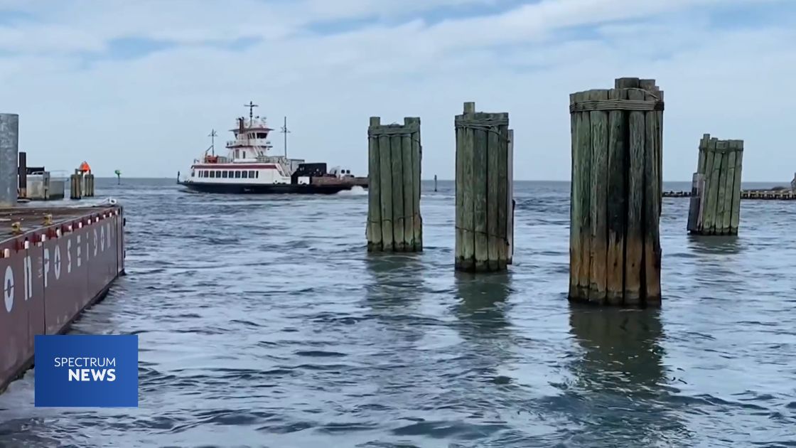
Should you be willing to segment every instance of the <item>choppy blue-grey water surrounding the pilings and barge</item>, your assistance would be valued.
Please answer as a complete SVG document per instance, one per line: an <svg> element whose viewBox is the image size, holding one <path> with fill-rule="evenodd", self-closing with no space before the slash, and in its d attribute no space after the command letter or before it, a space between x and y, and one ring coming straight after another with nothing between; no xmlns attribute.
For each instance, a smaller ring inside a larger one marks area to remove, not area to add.
<svg viewBox="0 0 796 448"><path fill-rule="evenodd" d="M514 265L477 278L452 188L424 185L423 253L369 255L366 194L98 182L129 275L74 331L139 335L140 407L37 409L29 371L0 445L796 446L796 202L690 238L665 199L663 308L618 311L566 300L568 183L516 184Z"/></svg>

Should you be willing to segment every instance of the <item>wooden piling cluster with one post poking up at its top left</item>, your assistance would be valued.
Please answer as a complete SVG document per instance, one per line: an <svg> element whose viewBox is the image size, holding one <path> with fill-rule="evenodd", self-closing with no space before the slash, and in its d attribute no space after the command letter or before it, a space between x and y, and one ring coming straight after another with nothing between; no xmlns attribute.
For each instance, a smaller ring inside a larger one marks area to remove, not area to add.
<svg viewBox="0 0 796 448"><path fill-rule="evenodd" d="M509 114L475 112L465 103L455 116L455 269L505 270L513 253L513 145Z"/></svg>

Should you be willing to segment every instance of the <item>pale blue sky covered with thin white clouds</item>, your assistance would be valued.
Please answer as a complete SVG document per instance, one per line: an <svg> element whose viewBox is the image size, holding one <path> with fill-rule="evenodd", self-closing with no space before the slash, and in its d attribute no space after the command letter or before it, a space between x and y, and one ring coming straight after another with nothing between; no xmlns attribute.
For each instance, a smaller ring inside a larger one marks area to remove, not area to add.
<svg viewBox="0 0 796 448"><path fill-rule="evenodd" d="M665 180L709 132L745 140L744 181L786 182L794 25L794 0L0 0L0 112L29 164L127 177L187 171L250 100L289 155L360 175L369 116L420 116L423 177L453 179L472 100L509 112L517 179L568 180L568 94L646 77Z"/></svg>

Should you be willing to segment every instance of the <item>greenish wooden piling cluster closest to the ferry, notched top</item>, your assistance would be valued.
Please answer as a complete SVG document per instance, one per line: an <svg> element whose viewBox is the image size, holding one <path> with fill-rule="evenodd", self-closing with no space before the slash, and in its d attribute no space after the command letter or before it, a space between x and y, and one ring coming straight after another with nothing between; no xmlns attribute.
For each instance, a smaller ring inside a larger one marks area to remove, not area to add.
<svg viewBox="0 0 796 448"><path fill-rule="evenodd" d="M368 251L423 250L420 119L381 124L379 117L370 117L368 155Z"/></svg>

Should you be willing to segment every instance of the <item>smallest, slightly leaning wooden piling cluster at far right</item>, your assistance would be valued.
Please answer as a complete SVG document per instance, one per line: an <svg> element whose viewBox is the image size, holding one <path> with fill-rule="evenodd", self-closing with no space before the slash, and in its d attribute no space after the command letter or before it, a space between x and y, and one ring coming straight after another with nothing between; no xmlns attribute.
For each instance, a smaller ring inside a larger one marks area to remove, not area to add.
<svg viewBox="0 0 796 448"><path fill-rule="evenodd" d="M742 162L743 140L702 136L691 187L689 234L738 234Z"/></svg>

